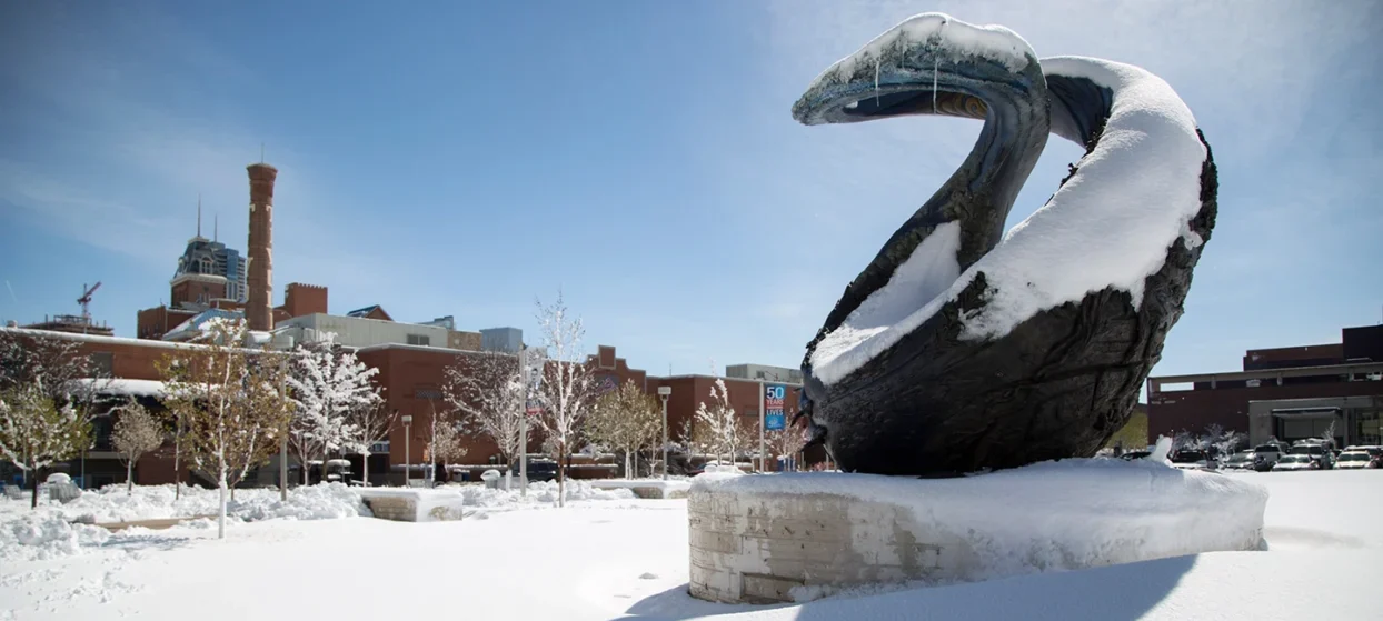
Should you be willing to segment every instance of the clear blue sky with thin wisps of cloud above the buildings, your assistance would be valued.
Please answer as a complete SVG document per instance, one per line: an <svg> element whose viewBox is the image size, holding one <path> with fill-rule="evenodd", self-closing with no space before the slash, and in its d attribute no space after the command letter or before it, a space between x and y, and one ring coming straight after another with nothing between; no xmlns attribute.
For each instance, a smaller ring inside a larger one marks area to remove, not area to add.
<svg viewBox="0 0 1383 621"><path fill-rule="evenodd" d="M845 285L979 123L802 127L833 61L940 10L1039 55L1142 65L1220 165L1220 219L1156 375L1335 342L1383 314L1376 3L0 4L0 319L133 336L245 165L279 169L274 288L331 310L523 328L559 286L586 347L654 373L795 367ZM1010 225L1080 155L1061 140ZM12 293L11 293L12 290Z"/></svg>

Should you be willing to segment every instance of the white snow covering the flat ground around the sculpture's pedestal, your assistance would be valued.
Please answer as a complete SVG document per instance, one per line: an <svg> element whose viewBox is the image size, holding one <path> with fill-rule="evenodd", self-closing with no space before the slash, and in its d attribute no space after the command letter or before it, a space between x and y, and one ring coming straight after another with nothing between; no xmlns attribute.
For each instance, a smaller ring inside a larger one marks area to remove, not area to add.
<svg viewBox="0 0 1383 621"><path fill-rule="evenodd" d="M238 523L225 541L214 528L133 528L82 556L0 557L0 620L1380 617L1383 470L1227 476L1270 491L1267 552L725 606L685 595L685 501L578 501L422 524ZM18 509L0 506L4 530Z"/></svg>

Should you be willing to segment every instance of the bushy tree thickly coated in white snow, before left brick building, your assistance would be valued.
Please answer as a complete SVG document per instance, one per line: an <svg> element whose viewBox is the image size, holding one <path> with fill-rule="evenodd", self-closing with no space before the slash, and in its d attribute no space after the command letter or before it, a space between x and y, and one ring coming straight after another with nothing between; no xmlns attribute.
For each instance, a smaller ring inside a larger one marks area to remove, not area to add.
<svg viewBox="0 0 1383 621"><path fill-rule="evenodd" d="M311 461L325 463L329 454L354 437L351 412L372 409L382 401L371 382L378 372L353 351L339 351L331 339L295 349L288 375L293 401L289 445L303 463L304 485Z"/></svg>

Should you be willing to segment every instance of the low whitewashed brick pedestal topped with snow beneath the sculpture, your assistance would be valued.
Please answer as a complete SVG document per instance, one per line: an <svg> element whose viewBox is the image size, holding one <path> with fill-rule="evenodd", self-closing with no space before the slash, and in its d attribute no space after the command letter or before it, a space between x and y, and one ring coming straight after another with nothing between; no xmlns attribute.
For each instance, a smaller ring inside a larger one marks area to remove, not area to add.
<svg viewBox="0 0 1383 621"><path fill-rule="evenodd" d="M1164 463L1068 459L964 479L703 474L690 591L772 603L867 584L1004 575L1250 550L1267 491Z"/></svg>

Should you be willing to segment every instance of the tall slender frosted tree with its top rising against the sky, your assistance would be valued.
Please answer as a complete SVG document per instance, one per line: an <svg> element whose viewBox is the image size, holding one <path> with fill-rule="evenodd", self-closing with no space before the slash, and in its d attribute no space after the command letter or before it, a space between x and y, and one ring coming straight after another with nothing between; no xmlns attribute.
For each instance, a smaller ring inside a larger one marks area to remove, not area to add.
<svg viewBox="0 0 1383 621"><path fill-rule="evenodd" d="M581 339L586 331L579 318L570 315L560 290L557 300L550 306L538 302L537 317L542 346L548 350L548 362L538 390L544 407L538 425L555 447L557 506L564 506L567 479L564 466L570 465L571 448L586 416L595 382L581 351Z"/></svg>

